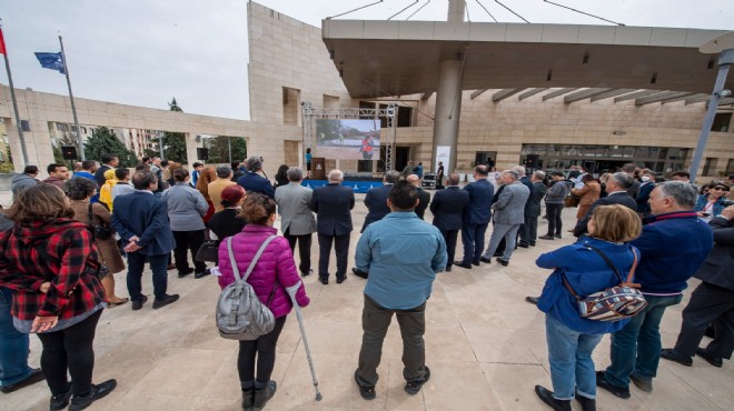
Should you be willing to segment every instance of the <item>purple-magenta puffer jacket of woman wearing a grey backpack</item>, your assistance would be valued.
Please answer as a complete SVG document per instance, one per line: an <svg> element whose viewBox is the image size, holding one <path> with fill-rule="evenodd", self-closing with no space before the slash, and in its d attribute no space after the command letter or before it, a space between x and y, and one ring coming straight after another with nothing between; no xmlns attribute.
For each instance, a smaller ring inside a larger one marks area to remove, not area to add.
<svg viewBox="0 0 734 411"><path fill-rule="evenodd" d="M242 232L232 237L232 252L235 261L239 268L239 274L245 275L247 268L252 261L255 253L262 242L270 235L277 234L278 230L267 225L247 224ZM227 241L219 244L219 287L222 289L235 282L235 273L229 262L229 252L227 251ZM279 285L276 287L276 275ZM292 309L290 297L286 292L286 287L292 287L298 281L298 271L294 262L294 254L288 245L288 240L282 237L274 239L260 255L255 269L247 279L252 285L255 293L264 304L268 303L270 292L276 287L275 297L270 304L270 310L275 318L287 315ZM310 302L306 295L306 288L301 283L296 292L298 305L306 307Z"/></svg>

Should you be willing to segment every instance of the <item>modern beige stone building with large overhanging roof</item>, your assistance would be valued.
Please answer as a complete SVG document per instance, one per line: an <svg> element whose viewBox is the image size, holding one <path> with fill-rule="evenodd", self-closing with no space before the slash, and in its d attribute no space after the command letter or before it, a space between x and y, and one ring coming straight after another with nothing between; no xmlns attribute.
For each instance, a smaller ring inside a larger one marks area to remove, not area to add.
<svg viewBox="0 0 734 411"><path fill-rule="evenodd" d="M189 162L198 134L244 137L272 176L280 163L302 162L301 103L353 111L397 103L394 134L383 127L380 140L383 151L394 146L396 169L410 159L430 170L437 147L448 146L449 170L532 160L602 171L633 161L665 173L691 163L716 77L716 56L698 47L724 32L460 19L325 20L319 29L249 2L248 33L249 121L76 99L80 123L182 132ZM9 94L0 87L0 117L21 158ZM17 94L30 161L48 163L50 124L72 123L69 99ZM700 181L734 171L732 103L722 99ZM327 159L335 167L379 172L384 161Z"/></svg>

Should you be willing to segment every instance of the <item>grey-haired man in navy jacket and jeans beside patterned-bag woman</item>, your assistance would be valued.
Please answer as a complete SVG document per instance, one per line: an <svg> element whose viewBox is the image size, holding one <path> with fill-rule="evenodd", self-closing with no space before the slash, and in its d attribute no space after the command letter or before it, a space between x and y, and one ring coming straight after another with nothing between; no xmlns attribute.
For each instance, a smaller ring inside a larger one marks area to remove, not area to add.
<svg viewBox="0 0 734 411"><path fill-rule="evenodd" d="M596 373L596 384L616 397L629 398L631 380L643 391L653 390L665 309L681 302L686 281L713 248L713 231L693 211L696 194L693 186L681 181L663 182L649 194L653 215L632 241L641 254L635 281L647 308L612 334L612 364Z"/></svg>

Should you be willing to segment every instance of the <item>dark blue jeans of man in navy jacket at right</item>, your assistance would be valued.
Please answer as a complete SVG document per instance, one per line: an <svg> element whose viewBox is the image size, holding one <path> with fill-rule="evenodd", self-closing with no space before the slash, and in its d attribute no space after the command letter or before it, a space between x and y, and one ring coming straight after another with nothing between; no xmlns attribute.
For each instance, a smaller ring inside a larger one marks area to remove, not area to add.
<svg viewBox="0 0 734 411"><path fill-rule="evenodd" d="M615 387L628 387L629 375L652 381L661 360L661 320L668 305L681 303L683 295L645 295L647 307L632 318L622 330L612 334L612 364L604 378Z"/></svg>

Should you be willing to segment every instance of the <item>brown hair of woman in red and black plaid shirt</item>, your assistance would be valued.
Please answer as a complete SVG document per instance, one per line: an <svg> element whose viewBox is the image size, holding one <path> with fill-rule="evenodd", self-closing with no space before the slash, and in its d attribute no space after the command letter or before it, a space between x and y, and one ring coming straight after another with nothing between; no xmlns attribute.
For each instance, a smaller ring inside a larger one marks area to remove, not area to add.
<svg viewBox="0 0 734 411"><path fill-rule="evenodd" d="M30 225L39 220L50 222L59 218L71 219L75 211L60 188L53 184L36 184L16 194L7 217L18 224Z"/></svg>

